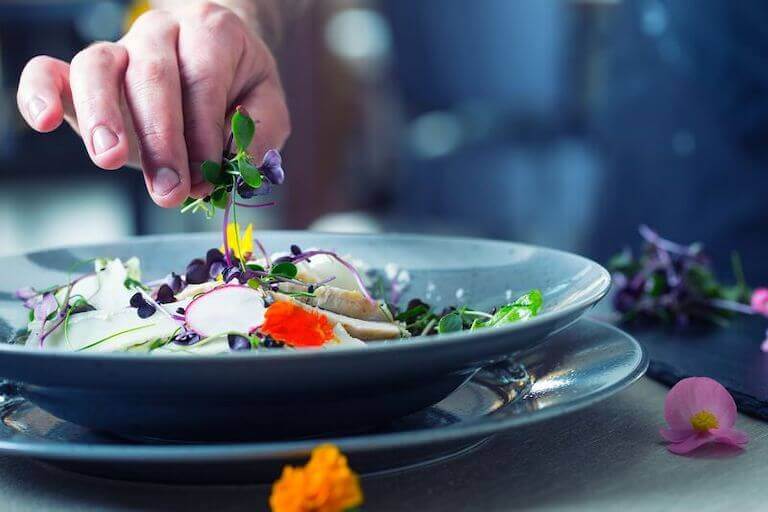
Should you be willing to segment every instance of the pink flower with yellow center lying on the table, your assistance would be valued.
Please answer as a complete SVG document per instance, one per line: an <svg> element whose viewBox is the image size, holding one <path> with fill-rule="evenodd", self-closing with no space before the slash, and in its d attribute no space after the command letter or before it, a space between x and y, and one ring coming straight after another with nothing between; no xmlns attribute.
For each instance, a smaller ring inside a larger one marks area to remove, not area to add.
<svg viewBox="0 0 768 512"><path fill-rule="evenodd" d="M664 402L664 419L669 428L659 430L669 441L667 449L684 454L707 443L743 448L749 437L736 430L736 403L717 381L689 377L675 384Z"/></svg>

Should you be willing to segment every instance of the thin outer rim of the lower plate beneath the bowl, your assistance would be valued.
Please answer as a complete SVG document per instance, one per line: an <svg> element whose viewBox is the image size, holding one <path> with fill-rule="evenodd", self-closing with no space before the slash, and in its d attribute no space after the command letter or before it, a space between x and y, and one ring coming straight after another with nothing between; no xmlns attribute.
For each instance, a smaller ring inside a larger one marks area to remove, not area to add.
<svg viewBox="0 0 768 512"><path fill-rule="evenodd" d="M529 425L582 409L603 400L632 384L648 368L648 355L642 345L621 329L591 319L582 319L607 333L623 338L637 354L635 366L621 379L563 404L539 409L508 418L485 418L469 424L441 427L417 432L370 434L354 437L306 439L299 441L247 442L235 444L201 445L73 445L54 442L29 442L0 440L0 453L23 455L48 460L121 461L121 462L199 462L199 461L247 461L272 460L278 457L306 453L320 443L333 443L347 453L370 452L399 447L458 441L489 436L510 428ZM545 348L544 348L545 349Z"/></svg>

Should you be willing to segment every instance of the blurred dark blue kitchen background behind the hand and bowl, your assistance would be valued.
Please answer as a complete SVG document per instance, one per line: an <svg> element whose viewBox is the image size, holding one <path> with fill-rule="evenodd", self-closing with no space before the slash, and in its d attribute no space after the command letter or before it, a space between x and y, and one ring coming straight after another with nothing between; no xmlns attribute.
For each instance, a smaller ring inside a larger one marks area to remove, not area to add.
<svg viewBox="0 0 768 512"><path fill-rule="evenodd" d="M27 128L37 54L120 37L128 1L0 0L0 254L217 229ZM495 237L600 261L647 223L768 281L768 2L315 0L278 49L294 133L258 228ZM446 255L450 257L450 255ZM725 272L725 271L724 271ZM757 282L756 282L757 281Z"/></svg>

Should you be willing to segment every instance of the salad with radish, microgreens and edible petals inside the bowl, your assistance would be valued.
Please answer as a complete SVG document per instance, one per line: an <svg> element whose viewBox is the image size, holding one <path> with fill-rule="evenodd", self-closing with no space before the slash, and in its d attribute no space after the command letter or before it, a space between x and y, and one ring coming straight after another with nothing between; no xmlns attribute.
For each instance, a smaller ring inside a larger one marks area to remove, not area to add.
<svg viewBox="0 0 768 512"><path fill-rule="evenodd" d="M434 311L412 299L395 302L407 284L388 282L364 263L332 251L253 254L249 225L230 225L228 255L211 248L186 269L142 281L140 260L97 258L93 270L43 290L16 295L29 323L16 342L31 349L131 352L152 355L365 347L365 341L408 339L467 329L490 329L535 317L542 305L531 290L491 312L467 306ZM234 235L233 235L234 233ZM394 264L390 263L389 268ZM390 290L393 302L369 287Z"/></svg>

